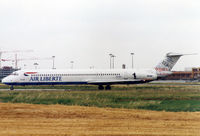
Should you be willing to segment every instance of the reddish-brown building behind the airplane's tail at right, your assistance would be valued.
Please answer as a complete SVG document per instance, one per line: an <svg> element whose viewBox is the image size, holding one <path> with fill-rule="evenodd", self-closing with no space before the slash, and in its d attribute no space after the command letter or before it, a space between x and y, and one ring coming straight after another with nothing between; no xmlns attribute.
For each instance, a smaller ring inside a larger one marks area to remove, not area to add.
<svg viewBox="0 0 200 136"><path fill-rule="evenodd" d="M162 80L199 80L200 68L192 68L191 71L173 71L171 75L162 78Z"/></svg>

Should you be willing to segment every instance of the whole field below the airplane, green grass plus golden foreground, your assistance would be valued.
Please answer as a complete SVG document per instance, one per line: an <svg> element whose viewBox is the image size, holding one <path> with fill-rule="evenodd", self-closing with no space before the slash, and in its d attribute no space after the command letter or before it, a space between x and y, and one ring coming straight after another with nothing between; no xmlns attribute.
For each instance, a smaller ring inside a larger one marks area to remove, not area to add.
<svg viewBox="0 0 200 136"><path fill-rule="evenodd" d="M95 86L0 88L0 136L200 134L199 86L145 84L114 86L112 91Z"/></svg>

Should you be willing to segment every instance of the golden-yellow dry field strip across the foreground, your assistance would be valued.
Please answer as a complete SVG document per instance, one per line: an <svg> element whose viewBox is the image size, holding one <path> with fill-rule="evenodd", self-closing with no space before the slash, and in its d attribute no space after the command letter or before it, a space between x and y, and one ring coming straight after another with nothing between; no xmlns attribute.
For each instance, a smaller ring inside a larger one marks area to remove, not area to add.
<svg viewBox="0 0 200 136"><path fill-rule="evenodd" d="M200 112L157 112L0 103L1 136L184 136L200 134Z"/></svg>

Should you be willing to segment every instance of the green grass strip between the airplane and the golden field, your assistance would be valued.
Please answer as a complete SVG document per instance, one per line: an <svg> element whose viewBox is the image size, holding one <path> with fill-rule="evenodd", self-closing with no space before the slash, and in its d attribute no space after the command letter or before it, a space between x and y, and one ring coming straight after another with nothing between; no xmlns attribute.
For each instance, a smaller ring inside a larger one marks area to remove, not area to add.
<svg viewBox="0 0 200 136"><path fill-rule="evenodd" d="M7 86L1 86L6 88ZM114 86L112 91L98 91L95 86L18 87L24 91L0 91L0 102L62 104L89 107L147 109L157 111L200 111L200 86L134 85ZM45 90L42 89L61 89ZM81 90L81 91L77 91Z"/></svg>

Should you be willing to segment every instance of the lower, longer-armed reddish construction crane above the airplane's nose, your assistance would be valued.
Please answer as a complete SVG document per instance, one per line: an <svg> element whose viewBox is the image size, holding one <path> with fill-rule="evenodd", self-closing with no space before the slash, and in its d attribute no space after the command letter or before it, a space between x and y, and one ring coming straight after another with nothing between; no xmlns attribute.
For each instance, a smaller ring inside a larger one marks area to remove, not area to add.
<svg viewBox="0 0 200 136"><path fill-rule="evenodd" d="M18 62L19 61L30 61L30 60L52 60L52 57L46 57L46 58L23 58L23 59L1 59L1 61L12 61L15 62L15 68L18 68Z"/></svg>

